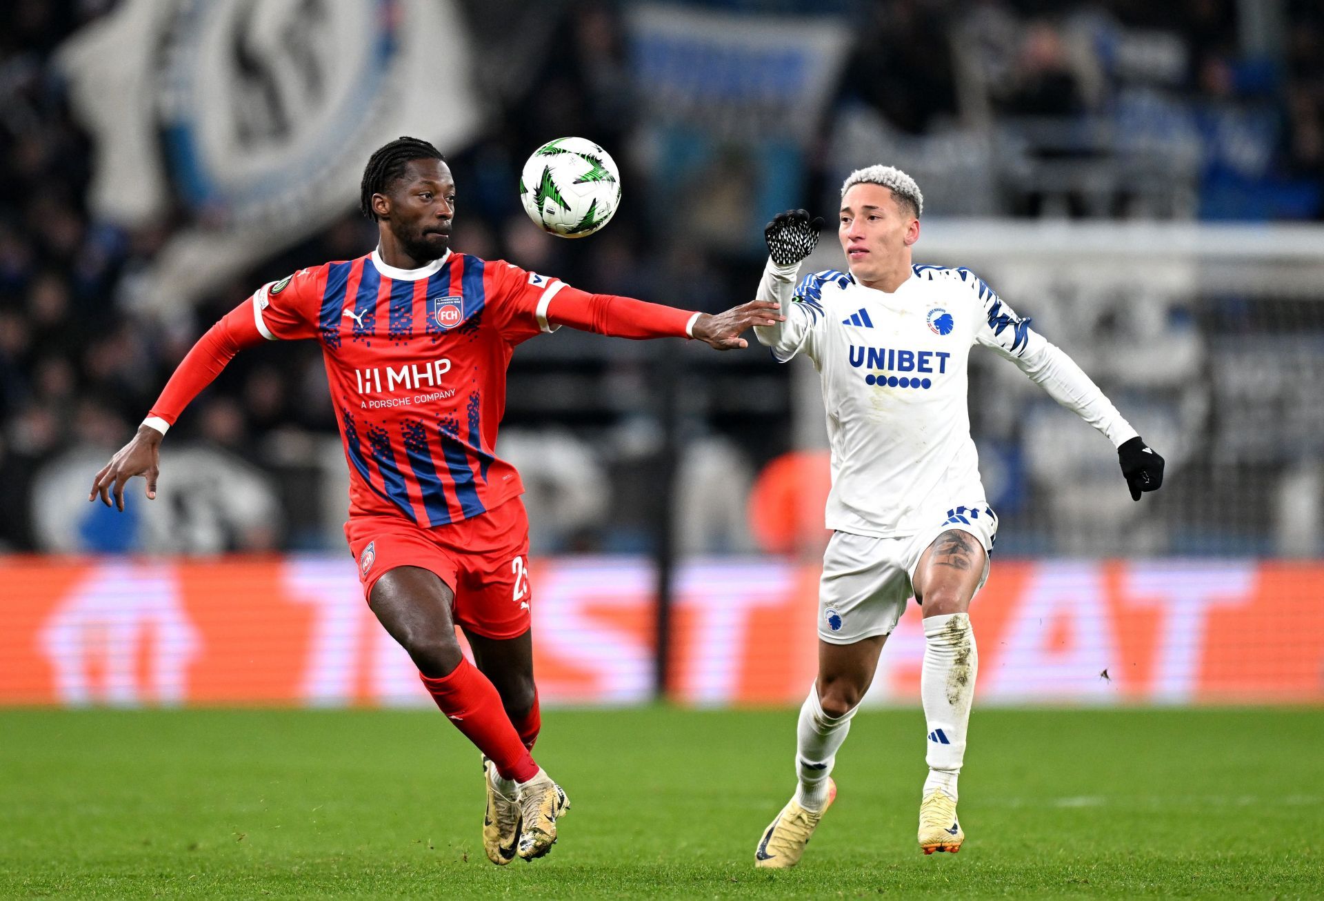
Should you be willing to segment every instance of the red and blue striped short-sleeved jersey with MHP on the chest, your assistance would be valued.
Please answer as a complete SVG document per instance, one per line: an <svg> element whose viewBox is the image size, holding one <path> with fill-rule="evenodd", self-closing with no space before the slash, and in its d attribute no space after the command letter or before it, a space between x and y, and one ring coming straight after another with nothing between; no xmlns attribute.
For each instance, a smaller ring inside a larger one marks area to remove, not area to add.
<svg viewBox="0 0 1324 901"><path fill-rule="evenodd" d="M422 269L376 252L260 289L269 339L322 342L350 464L350 513L402 513L432 527L524 489L495 456L515 344L551 331L563 282L504 261L450 253Z"/></svg>

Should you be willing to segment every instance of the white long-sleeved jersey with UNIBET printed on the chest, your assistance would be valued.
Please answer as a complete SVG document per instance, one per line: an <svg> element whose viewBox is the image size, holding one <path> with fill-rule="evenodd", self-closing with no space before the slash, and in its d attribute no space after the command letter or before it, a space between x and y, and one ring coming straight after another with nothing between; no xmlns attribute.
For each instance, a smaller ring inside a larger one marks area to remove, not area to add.
<svg viewBox="0 0 1324 901"><path fill-rule="evenodd" d="M806 276L793 292L797 269L768 261L759 298L779 301L786 321L755 334L782 363L806 354L822 378L829 529L914 535L933 527L935 515L982 504L967 409L976 343L1016 363L1113 447L1136 435L1070 356L968 269L914 266L894 293L834 270Z"/></svg>

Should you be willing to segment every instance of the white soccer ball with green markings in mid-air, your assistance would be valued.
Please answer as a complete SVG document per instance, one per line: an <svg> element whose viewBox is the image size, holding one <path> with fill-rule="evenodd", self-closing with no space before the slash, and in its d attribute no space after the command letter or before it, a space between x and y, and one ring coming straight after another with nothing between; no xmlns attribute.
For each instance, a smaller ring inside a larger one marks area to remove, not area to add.
<svg viewBox="0 0 1324 901"><path fill-rule="evenodd" d="M519 200L549 235L587 237L606 225L621 204L621 174L592 140L557 138L524 163Z"/></svg>

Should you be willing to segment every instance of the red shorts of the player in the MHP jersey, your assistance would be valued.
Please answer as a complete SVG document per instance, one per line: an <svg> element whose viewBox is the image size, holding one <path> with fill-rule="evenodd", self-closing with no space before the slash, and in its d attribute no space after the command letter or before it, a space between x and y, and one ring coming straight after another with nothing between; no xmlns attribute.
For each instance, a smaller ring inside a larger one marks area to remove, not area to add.
<svg viewBox="0 0 1324 901"><path fill-rule="evenodd" d="M487 639L528 631L528 515L514 497L487 513L424 529L404 517L351 515L344 523L363 596L397 566L417 566L455 594L455 624Z"/></svg>

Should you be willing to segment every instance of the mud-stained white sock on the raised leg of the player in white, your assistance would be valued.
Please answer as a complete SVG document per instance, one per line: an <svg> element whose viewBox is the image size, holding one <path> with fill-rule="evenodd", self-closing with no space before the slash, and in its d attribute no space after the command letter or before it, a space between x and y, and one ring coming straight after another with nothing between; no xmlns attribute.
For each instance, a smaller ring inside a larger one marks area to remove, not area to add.
<svg viewBox="0 0 1324 901"><path fill-rule="evenodd" d="M941 788L952 800L957 799L956 778L965 758L965 729L970 721L978 665L969 613L924 619L924 669L919 693L928 722L925 798L935 788Z"/></svg>

